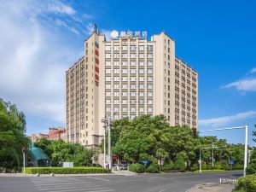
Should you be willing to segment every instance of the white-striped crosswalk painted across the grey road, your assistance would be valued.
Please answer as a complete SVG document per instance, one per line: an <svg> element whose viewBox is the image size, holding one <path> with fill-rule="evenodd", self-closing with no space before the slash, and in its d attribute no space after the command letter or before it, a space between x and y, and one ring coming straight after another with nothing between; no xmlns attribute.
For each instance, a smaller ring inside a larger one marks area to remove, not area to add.
<svg viewBox="0 0 256 192"><path fill-rule="evenodd" d="M80 180L76 177L31 177L34 187L41 192L112 192L104 183L92 182L94 179ZM105 185L105 186L104 186Z"/></svg>

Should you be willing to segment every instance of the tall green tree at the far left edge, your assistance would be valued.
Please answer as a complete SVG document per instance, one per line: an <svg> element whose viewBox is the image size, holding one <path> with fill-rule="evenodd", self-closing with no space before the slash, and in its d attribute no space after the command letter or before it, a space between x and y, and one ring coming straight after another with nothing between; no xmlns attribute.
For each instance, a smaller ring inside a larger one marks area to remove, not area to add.
<svg viewBox="0 0 256 192"><path fill-rule="evenodd" d="M26 118L14 104L0 99L0 166L2 170L20 168L21 149L26 147Z"/></svg>

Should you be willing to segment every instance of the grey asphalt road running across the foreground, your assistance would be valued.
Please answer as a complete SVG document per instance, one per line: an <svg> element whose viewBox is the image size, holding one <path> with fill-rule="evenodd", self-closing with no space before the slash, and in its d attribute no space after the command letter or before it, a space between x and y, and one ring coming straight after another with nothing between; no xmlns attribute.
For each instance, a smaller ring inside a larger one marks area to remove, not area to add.
<svg viewBox="0 0 256 192"><path fill-rule="evenodd" d="M232 172L232 177L241 172ZM1 192L185 192L200 183L218 183L221 173L139 174L134 176L0 177Z"/></svg>

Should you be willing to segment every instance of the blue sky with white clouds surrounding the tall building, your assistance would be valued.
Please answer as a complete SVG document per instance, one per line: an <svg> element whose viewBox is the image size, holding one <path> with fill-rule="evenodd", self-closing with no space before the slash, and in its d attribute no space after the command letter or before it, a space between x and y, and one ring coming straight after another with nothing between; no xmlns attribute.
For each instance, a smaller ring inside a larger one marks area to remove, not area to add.
<svg viewBox="0 0 256 192"><path fill-rule="evenodd" d="M255 9L255 1L236 0L3 0L0 97L26 113L28 134L64 126L65 71L83 54L92 24L106 35L164 30L176 41L176 55L199 73L200 130L247 123L253 131ZM216 135L243 143L243 131Z"/></svg>

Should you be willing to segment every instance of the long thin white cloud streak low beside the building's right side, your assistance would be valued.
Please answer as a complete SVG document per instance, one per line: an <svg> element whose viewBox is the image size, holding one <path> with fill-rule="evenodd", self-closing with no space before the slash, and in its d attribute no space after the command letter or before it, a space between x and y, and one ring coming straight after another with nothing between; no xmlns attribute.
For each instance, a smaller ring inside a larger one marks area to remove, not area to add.
<svg viewBox="0 0 256 192"><path fill-rule="evenodd" d="M247 111L244 113L236 113L234 115L212 118L212 119L200 119L199 125L202 126L222 126L229 125L231 123L237 122L239 120L249 119L256 117L256 111Z"/></svg>

